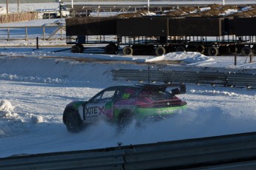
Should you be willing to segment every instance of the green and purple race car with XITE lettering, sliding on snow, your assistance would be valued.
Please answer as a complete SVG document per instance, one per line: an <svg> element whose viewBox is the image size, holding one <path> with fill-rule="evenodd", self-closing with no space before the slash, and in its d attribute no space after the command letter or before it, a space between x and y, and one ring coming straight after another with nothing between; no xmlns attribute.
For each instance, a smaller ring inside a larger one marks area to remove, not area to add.
<svg viewBox="0 0 256 170"><path fill-rule="evenodd" d="M171 89L167 88L180 86ZM69 132L79 132L85 125L106 119L125 126L133 119L164 117L186 107L176 95L186 92L185 84L137 84L111 86L103 89L89 101L73 101L65 107L63 123Z"/></svg>

